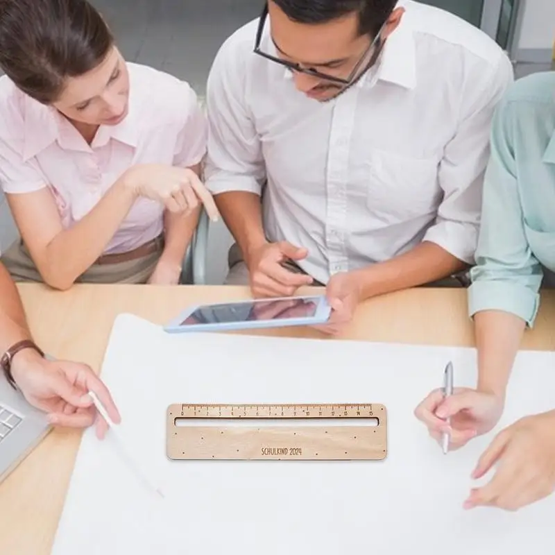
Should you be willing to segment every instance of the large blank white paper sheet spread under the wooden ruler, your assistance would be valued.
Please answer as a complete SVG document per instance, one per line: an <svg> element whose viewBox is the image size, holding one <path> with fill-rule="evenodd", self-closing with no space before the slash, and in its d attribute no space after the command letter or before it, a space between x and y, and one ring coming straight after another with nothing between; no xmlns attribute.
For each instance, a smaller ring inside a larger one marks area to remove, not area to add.
<svg viewBox="0 0 555 555"><path fill-rule="evenodd" d="M145 490L110 441L87 430L53 555L551 554L555 497L518 513L467 512L462 504L494 432L555 407L554 355L522 352L499 427L444 456L413 410L442 385L449 359L455 385L472 385L470 349L170 335L121 315L102 377L123 417L121 436L166 498ZM170 461L166 409L180 402L383 403L388 456Z"/></svg>

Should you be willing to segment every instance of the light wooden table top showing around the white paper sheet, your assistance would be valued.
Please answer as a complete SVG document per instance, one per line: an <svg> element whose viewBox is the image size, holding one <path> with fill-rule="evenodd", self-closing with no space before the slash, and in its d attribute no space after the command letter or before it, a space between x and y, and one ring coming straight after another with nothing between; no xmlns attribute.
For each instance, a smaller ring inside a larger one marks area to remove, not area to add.
<svg viewBox="0 0 555 555"><path fill-rule="evenodd" d="M83 361L95 370L101 367L112 323L121 312L164 323L192 303L248 297L246 289L235 287L82 285L60 293L22 284L19 290L36 341L56 357ZM536 328L527 332L523 348L555 349L554 321L555 292L549 292L543 296ZM256 333L321 336L301 328ZM370 300L359 307L343 339L471 346L466 291L414 289ZM52 432L0 484L0 554L51 552L80 435Z"/></svg>

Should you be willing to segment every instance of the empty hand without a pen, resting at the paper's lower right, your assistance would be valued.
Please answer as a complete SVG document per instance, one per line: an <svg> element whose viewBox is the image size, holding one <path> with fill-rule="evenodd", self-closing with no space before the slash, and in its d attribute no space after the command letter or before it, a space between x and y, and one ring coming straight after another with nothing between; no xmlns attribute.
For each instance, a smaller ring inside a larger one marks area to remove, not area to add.
<svg viewBox="0 0 555 555"><path fill-rule="evenodd" d="M518 511L555 491L555 411L528 416L504 429L479 460L479 479L497 463L491 481L470 493L465 509Z"/></svg>

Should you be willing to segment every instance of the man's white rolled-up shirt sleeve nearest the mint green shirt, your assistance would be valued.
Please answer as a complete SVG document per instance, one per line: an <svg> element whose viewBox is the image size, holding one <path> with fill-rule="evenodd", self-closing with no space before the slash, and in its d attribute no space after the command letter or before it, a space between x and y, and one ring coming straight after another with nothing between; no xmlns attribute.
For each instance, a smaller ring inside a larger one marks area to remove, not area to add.
<svg viewBox="0 0 555 555"><path fill-rule="evenodd" d="M459 109L459 126L438 169L443 200L424 240L467 264L475 263L491 121L512 82L513 67L504 55L493 70L486 71L481 64L473 68L466 78L468 90Z"/></svg>

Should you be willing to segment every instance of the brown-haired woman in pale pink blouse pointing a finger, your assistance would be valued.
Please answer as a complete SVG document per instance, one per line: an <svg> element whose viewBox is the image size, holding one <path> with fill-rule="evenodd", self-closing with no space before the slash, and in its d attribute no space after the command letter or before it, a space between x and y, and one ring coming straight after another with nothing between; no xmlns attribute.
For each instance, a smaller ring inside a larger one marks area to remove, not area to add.
<svg viewBox="0 0 555 555"><path fill-rule="evenodd" d="M126 63L85 0L0 3L0 182L15 280L177 284L207 124L173 76Z"/></svg>

